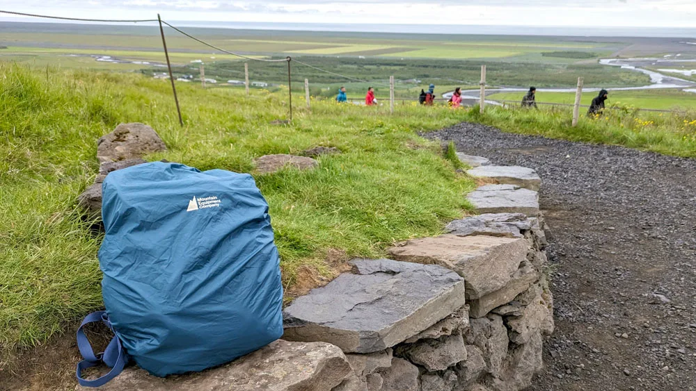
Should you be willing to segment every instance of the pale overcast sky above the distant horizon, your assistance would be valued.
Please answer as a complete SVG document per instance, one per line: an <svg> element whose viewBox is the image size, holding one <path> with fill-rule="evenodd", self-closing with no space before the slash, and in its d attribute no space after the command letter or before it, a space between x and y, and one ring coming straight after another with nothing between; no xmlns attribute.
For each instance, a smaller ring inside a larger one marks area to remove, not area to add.
<svg viewBox="0 0 696 391"><path fill-rule="evenodd" d="M1 10L221 22L696 26L696 0L3 0ZM8 17L2 17L8 20ZM521 33L524 33L521 31Z"/></svg>

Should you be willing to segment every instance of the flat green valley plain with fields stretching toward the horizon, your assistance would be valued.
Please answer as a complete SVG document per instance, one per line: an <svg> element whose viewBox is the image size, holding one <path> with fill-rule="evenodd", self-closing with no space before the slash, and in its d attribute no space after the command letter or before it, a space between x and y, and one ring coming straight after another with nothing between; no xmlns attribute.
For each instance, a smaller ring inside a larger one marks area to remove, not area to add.
<svg viewBox="0 0 696 391"><path fill-rule="evenodd" d="M182 30L228 51L265 58L291 56L348 76L342 78L296 63L292 72L293 90L301 91L304 79L308 78L311 94L324 98L332 97L345 85L351 99L363 97L368 86L376 88L377 97L386 99L389 76L397 80L395 94L399 99L416 99L418 92L427 89L430 83L436 84L438 93L457 86L473 89L478 87L483 64L487 65L487 84L491 86L572 88L578 76L583 76L587 87L636 87L649 84L649 76L600 65L599 58L662 58L677 54L681 58L696 58L696 44L687 43L696 39L689 38L381 34L201 27L182 27ZM235 88L227 82L244 80L242 59L205 47L171 28L165 27L165 33L177 78L196 81L203 63L206 77L214 79L216 86ZM0 48L3 48L0 61L36 67L141 72L147 76L162 76L166 71L157 24L0 22ZM251 61L250 77L251 81L267 83L264 88L278 90L287 85L287 67L285 63ZM505 96L510 98L521 97ZM553 101L559 99L553 97ZM658 99L665 102L644 107L672 107L674 102L676 106L696 107L696 94L664 90ZM636 102L650 103L650 100Z"/></svg>

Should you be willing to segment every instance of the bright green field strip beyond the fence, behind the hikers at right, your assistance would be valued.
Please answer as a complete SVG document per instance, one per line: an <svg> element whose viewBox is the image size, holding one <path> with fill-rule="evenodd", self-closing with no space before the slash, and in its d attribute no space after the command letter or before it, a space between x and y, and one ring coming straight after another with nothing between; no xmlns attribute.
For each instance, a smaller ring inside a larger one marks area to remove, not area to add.
<svg viewBox="0 0 696 391"><path fill-rule="evenodd" d="M523 92L504 92L490 95L490 99L500 101L521 101ZM596 97L596 92L583 93L583 105L589 105ZM636 108L653 108L671 110L674 108L696 108L696 94L681 90L634 90L609 91L607 103L630 105ZM575 103L574 92L542 92L537 91L537 102L546 103Z"/></svg>

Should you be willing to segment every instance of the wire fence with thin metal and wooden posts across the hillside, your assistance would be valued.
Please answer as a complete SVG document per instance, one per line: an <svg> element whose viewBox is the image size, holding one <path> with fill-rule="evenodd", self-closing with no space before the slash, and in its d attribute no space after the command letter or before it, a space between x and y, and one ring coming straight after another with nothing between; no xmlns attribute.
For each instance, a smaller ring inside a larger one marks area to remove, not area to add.
<svg viewBox="0 0 696 391"><path fill-rule="evenodd" d="M302 65L303 67L308 67L310 69L314 69L315 71L322 72L324 74L329 74L331 76L335 76L337 78L346 80L346 81L351 81L351 82L356 82L356 83L368 83L371 85L376 85L376 86L382 86L382 87L387 87L390 88L390 97L388 98L390 101L390 106L392 107L392 112L393 112L393 106L395 101L401 101L402 105L406 103L406 101L413 102L413 101L418 101L418 97L413 97L413 98L395 98L394 97L394 91L397 89L395 88L395 85L393 83L393 76L390 78L390 83L381 83L378 81L367 81L362 78L357 78L353 76L348 76L345 74L340 74L338 72L333 72L328 69L324 69L322 67L317 67L316 65L312 65L309 63L306 63L305 61L302 60L297 60L296 58L292 58L290 56L287 56L285 58L264 58L264 57L255 57L255 56L248 56L244 53L239 53L237 51L231 51L228 49L223 49L219 47L218 45L211 44L210 42L207 42L201 38L196 37L195 35L191 33L187 33L186 31L182 30L182 28L179 28L177 26L174 26L173 24L166 22L165 20L162 20L159 15L157 15L157 19L88 19L88 18L77 18L77 17L59 17L59 16L54 16L54 15L39 15L39 14L33 14L33 13L19 13L15 11L8 11L8 10L0 10L0 14L7 14L7 15L15 15L15 16L24 16L24 17L35 17L35 18L42 18L42 19L57 19L57 20L65 20L65 21L74 21L74 22L98 22L98 23L125 23L125 24L138 24L138 23L158 23L159 24L159 29L161 32L161 38L162 38L162 44L164 47L164 53L166 56L167 60L167 66L168 66L168 78L171 79L171 85L172 85L172 90L173 90L173 96L175 99L175 103L177 106L177 113L179 115L180 123L182 126L184 125L182 115L181 115L181 109L179 106L179 101L177 98L177 93L176 93L176 86L175 86L175 78L173 75L172 67L171 67L171 62L169 60L169 54L168 54L168 49L166 45L166 38L164 34L164 27L163 26L168 26L169 28L173 29L173 31L183 35L186 38L189 38L190 40L193 40L195 42L198 42L199 44L202 44L205 47L208 47L210 49L214 49L215 51L219 53L224 53L228 54L229 56L233 56L236 58L242 58L244 60L248 61L254 61L258 63L287 63L287 82L288 82L288 97L290 99L290 104L289 104L289 117L290 121L292 121L292 68L291 68L291 63L296 63L298 65ZM200 65L200 79L203 85L205 86L205 76L203 72L203 65ZM245 81L244 84L246 86L246 92L248 94L248 89L249 89L249 76L248 76L248 64L245 63L244 65L244 74L245 74ZM239 72L241 71L235 71L235 70L230 70L230 72ZM482 78L481 78L481 91L480 91L480 98L475 98L475 97L466 97L466 100L470 99L478 99L480 108L483 111L484 105L489 102L493 102L495 104L501 105L503 107L507 106L521 106L521 101L510 101L510 100L499 100L499 99L487 99L485 97L485 86L486 86L486 69L485 65L482 66ZM455 81L455 82L461 82L465 83L464 81L458 81L457 79L450 78L450 81ZM309 93L309 87L308 87L308 79L305 79L305 88L306 88L306 97L307 97L307 106L309 107L310 105L310 93ZM405 87L405 88L400 88L400 90L412 90L413 88L411 87ZM577 116L578 116L578 108L583 107L587 108L590 106L587 105L580 105L580 94L582 92L582 81L578 80L578 92L576 94L576 103L575 104L570 104L570 103L551 103L551 102L536 102L537 105L546 105L546 106L562 106L562 107L573 107L575 109L574 113L574 124L576 123ZM380 98L383 99L383 98ZM385 98L386 99L386 98ZM348 98L348 101L356 102L356 101L364 101L365 99L356 99L356 98ZM449 99L446 98L436 98L434 101L448 101ZM608 109L613 109L612 107L608 107ZM657 112L657 113L671 113L672 110L658 110L658 109L650 109L650 108L638 108L637 110L640 111L646 111L646 112Z"/></svg>

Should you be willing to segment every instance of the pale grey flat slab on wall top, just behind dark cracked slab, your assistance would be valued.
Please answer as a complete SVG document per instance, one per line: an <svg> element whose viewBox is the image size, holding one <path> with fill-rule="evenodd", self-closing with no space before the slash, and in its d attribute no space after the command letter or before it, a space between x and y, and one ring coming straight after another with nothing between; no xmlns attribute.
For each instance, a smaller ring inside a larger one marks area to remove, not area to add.
<svg viewBox="0 0 696 391"><path fill-rule="evenodd" d="M470 192L466 199L477 213L523 213L539 215L539 193L516 185L485 185Z"/></svg>

